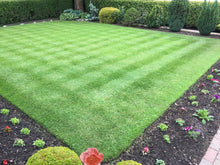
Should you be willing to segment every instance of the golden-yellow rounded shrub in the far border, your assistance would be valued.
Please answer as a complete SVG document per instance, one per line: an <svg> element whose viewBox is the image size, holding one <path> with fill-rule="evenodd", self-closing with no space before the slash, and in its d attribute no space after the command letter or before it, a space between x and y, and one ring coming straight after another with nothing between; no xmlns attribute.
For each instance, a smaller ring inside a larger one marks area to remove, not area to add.
<svg viewBox="0 0 220 165"><path fill-rule="evenodd" d="M104 7L99 12L99 21L100 23L115 23L116 18L114 17L115 13L120 13L120 10L114 7Z"/></svg>

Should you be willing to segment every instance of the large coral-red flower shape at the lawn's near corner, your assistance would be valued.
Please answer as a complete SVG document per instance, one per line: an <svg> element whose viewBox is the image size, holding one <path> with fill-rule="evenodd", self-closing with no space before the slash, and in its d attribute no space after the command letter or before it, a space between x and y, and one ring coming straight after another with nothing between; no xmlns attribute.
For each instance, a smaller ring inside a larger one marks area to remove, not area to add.
<svg viewBox="0 0 220 165"><path fill-rule="evenodd" d="M88 148L79 158L84 165L101 165L104 155L99 153L96 148Z"/></svg>

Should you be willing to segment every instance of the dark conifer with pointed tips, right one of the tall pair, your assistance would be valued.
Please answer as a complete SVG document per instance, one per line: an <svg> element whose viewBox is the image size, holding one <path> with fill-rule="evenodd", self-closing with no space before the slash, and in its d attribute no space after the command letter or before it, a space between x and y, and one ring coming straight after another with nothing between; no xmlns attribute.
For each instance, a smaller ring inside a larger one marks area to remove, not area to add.
<svg viewBox="0 0 220 165"><path fill-rule="evenodd" d="M198 19L198 30L201 35L209 35L216 29L219 17L219 6L217 0L211 5L206 0Z"/></svg>

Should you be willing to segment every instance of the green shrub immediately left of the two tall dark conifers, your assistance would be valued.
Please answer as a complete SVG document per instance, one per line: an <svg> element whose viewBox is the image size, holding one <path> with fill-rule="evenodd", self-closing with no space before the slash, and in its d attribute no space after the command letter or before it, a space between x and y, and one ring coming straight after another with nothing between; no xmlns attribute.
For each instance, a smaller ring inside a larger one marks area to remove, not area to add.
<svg viewBox="0 0 220 165"><path fill-rule="evenodd" d="M150 13L145 14L143 23L149 28L158 28L162 24L162 7L155 5Z"/></svg>

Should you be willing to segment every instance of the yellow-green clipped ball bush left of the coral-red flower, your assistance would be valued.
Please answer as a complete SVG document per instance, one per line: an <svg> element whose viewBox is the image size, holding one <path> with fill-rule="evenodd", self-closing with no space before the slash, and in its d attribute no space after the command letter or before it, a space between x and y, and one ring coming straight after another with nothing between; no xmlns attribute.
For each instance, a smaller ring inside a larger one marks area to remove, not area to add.
<svg viewBox="0 0 220 165"><path fill-rule="evenodd" d="M26 165L82 165L82 162L67 147L48 147L32 155Z"/></svg>

